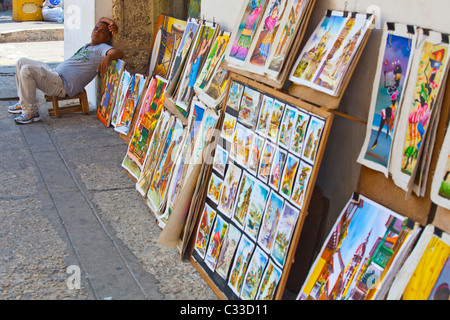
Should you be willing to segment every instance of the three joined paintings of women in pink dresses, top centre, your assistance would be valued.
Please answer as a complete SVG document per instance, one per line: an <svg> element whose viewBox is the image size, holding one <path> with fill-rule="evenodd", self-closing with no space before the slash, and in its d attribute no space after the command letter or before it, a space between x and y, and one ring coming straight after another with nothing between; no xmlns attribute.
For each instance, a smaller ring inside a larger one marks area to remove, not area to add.
<svg viewBox="0 0 450 320"><path fill-rule="evenodd" d="M244 1L226 61L234 67L278 79L291 52L308 0Z"/></svg>

